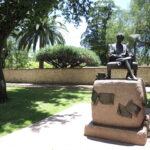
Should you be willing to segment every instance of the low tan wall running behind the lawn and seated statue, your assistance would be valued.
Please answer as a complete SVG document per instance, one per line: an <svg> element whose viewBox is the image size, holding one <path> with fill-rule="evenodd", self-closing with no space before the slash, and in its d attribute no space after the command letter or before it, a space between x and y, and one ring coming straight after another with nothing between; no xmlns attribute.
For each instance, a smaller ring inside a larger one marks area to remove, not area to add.
<svg viewBox="0 0 150 150"><path fill-rule="evenodd" d="M93 84L96 74L107 72L106 67L75 69L4 69L6 82ZM112 70L112 78L125 78L126 70ZM150 67L139 67L137 76L150 85Z"/></svg>

